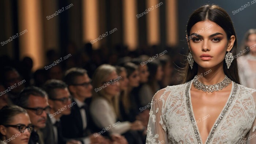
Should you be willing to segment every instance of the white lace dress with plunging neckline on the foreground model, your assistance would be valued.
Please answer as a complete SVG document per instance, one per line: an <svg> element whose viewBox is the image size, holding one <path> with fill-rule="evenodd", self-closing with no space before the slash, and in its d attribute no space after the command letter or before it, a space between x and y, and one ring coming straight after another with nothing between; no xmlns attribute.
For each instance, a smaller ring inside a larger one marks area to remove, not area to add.
<svg viewBox="0 0 256 144"><path fill-rule="evenodd" d="M191 104L191 85L192 80L168 86L154 95L146 144L202 144ZM256 144L253 92L255 89L232 81L229 99L207 137L207 144Z"/></svg>

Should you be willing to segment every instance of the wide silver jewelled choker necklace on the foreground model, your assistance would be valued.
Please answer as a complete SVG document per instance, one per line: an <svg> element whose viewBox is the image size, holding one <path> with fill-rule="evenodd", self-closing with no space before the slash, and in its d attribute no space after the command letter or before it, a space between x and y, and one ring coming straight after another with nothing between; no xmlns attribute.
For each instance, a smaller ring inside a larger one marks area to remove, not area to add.
<svg viewBox="0 0 256 144"><path fill-rule="evenodd" d="M218 84L213 84L213 85L205 85L201 83L198 79L197 76L194 77L193 79L193 85L195 88L204 91L204 92L214 92L214 91L219 91L222 90L223 88L227 87L231 83L231 80L225 75L224 80L222 80Z"/></svg>

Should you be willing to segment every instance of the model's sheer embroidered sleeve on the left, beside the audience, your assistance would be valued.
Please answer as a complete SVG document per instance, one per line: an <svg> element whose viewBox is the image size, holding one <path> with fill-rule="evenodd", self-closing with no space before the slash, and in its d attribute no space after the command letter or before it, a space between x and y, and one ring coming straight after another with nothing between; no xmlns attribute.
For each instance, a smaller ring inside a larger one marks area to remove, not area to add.
<svg viewBox="0 0 256 144"><path fill-rule="evenodd" d="M163 142L166 144L169 143L166 124L163 120L166 98L165 89L161 89L155 93L151 101L146 144L160 144Z"/></svg>

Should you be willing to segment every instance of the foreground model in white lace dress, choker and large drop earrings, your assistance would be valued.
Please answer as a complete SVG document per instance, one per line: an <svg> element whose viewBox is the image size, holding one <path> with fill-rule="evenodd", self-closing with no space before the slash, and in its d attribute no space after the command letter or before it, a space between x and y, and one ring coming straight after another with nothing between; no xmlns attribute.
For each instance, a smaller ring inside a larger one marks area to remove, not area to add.
<svg viewBox="0 0 256 144"><path fill-rule="evenodd" d="M200 7L188 20L187 38L186 83L155 94L147 143L255 143L255 91L240 85L229 15L216 5Z"/></svg>

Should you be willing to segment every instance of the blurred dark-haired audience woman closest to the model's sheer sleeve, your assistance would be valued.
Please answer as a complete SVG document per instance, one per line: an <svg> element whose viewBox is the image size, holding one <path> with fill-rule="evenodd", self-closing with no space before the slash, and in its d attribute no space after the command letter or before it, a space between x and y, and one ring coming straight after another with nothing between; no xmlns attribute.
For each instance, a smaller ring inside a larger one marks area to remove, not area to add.
<svg viewBox="0 0 256 144"><path fill-rule="evenodd" d="M160 89L159 81L162 80L163 76L161 63L157 59L148 63L147 66L150 73L148 82L139 91L139 97L143 107L150 103L153 95Z"/></svg>

